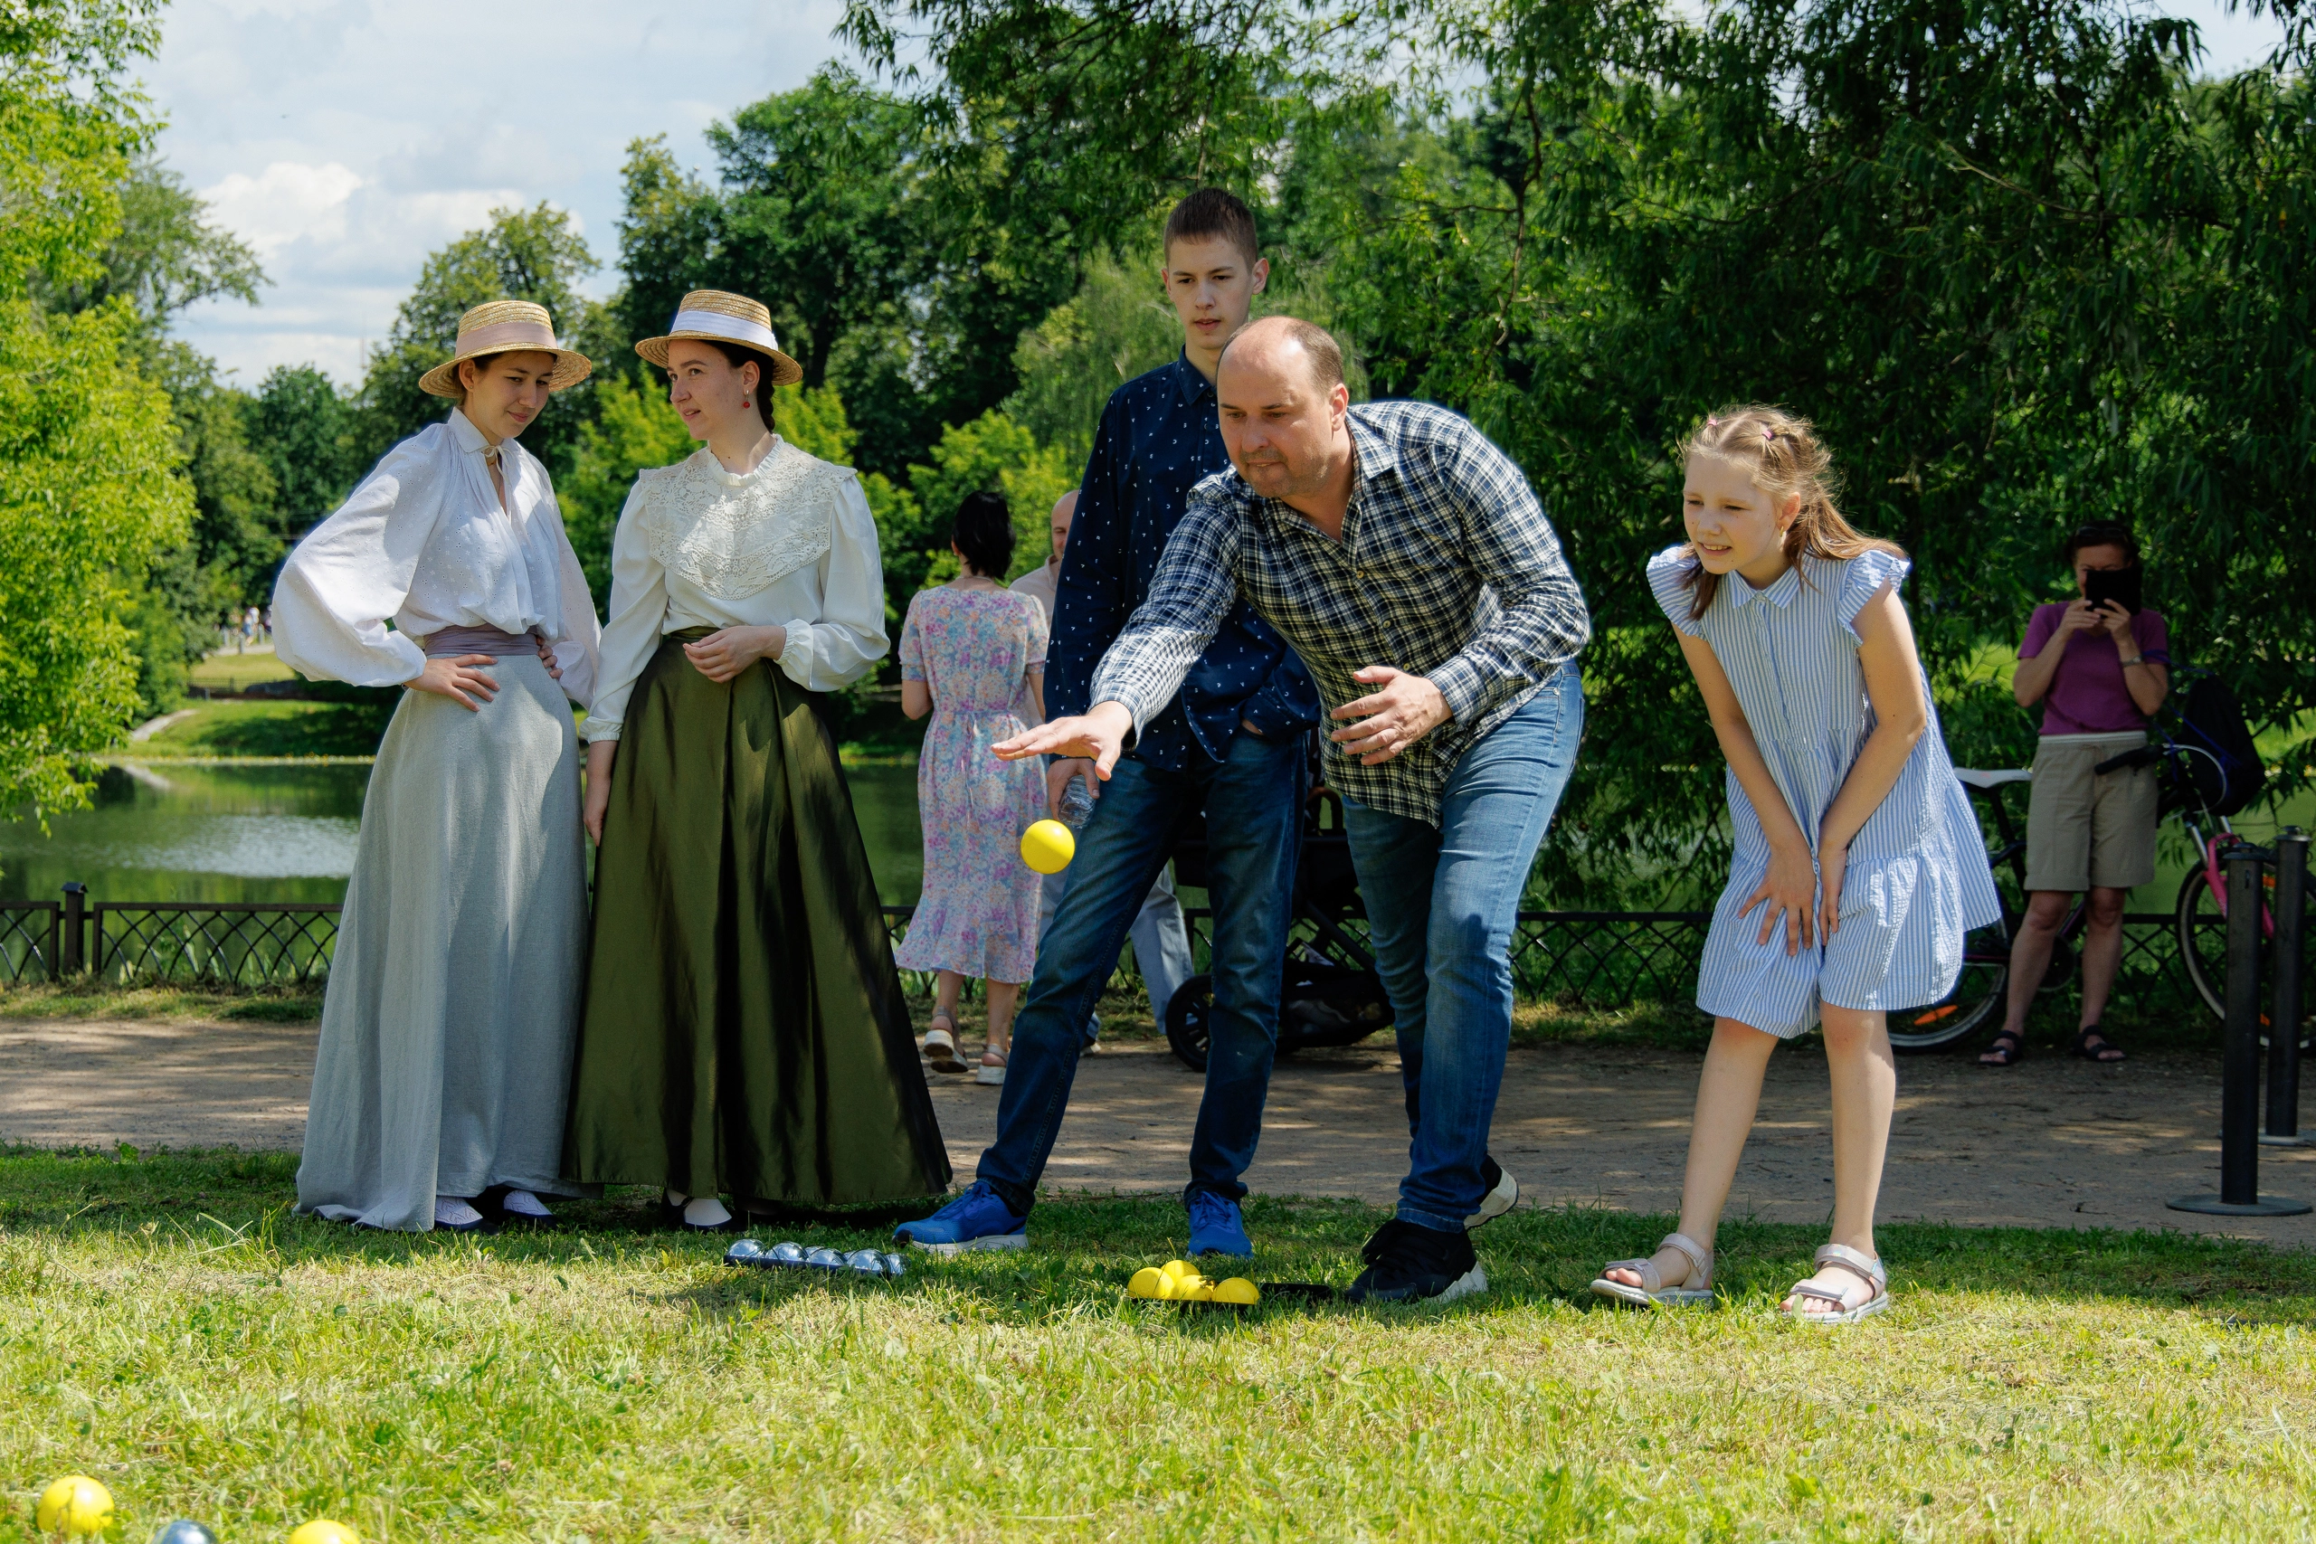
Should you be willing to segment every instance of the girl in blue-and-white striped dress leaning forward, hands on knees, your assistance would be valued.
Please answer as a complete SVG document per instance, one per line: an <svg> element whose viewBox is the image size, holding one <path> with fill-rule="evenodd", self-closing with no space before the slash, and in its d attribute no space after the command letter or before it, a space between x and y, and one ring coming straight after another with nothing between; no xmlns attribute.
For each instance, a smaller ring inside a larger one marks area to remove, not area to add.
<svg viewBox="0 0 2316 1544"><path fill-rule="evenodd" d="M1721 410L1686 447L1688 542L1649 563L1728 757L1735 856L1698 972L1714 1042L1681 1231L1610 1264L1593 1282L1610 1299L1712 1299L1714 1231L1769 1051L1823 1023L1834 1227L1783 1310L1850 1324L1888 1308L1874 1250L1897 1102L1885 1014L1945 998L1964 933L1999 912L1897 600L1911 565L1841 519L1830 470L1802 419Z"/></svg>

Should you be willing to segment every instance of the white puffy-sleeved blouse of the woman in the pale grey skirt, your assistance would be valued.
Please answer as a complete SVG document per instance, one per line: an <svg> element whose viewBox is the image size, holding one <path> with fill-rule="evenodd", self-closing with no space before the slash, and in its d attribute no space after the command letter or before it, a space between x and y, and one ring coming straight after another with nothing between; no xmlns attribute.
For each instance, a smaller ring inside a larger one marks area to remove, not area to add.
<svg viewBox="0 0 2316 1544"><path fill-rule="evenodd" d="M563 532L547 468L503 440L500 509L489 440L456 407L380 461L306 532L273 581L273 648L315 681L401 685L442 627L530 632L554 644L563 692L595 694L602 630ZM387 623L394 630L387 630Z"/></svg>

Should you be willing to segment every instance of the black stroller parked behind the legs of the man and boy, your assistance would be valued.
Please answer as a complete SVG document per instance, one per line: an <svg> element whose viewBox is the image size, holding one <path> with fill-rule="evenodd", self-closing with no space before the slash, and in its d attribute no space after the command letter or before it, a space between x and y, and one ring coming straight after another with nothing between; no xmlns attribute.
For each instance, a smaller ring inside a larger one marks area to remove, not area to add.
<svg viewBox="0 0 2316 1544"><path fill-rule="evenodd" d="M1311 748L1311 792L1304 796L1299 852L1295 861L1295 900L1285 958L1285 986L1278 993L1278 1056L1304 1046L1348 1046L1376 1030L1390 1028L1392 1000L1383 995L1376 958L1343 924L1366 919L1359 900L1359 877L1350 866L1350 838L1343 833L1343 801L1320 785L1318 741ZM1207 817L1200 815L1174 845L1174 882L1207 887ZM1165 1007L1165 1039L1181 1065L1207 1069L1209 1014L1214 1012L1214 977L1195 975L1181 984Z"/></svg>

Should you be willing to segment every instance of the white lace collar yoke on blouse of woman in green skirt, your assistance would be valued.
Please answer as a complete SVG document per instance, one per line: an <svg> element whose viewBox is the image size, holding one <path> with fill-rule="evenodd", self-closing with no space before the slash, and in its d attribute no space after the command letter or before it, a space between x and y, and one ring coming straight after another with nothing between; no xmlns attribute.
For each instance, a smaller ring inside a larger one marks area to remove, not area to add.
<svg viewBox="0 0 2316 1544"><path fill-rule="evenodd" d="M850 472L776 438L753 472L727 472L699 449L646 477L639 523L651 556L702 595L736 602L820 563Z"/></svg>

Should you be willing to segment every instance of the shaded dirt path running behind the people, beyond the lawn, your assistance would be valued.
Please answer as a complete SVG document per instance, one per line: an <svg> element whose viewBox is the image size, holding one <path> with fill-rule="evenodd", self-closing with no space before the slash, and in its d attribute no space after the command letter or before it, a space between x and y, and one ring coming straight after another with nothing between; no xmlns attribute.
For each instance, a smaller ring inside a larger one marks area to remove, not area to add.
<svg viewBox="0 0 2316 1544"><path fill-rule="evenodd" d="M313 1035L313 1025L243 1023L0 1025L0 1141L294 1148ZM1672 1211L1695 1079L1691 1053L1515 1051L1494 1150L1531 1201ZM1047 1183L1174 1190L1197 1093L1197 1076L1153 1042L1089 1058ZM966 1079L933 1081L963 1178L996 1127L996 1095ZM1390 1201L1406 1167L1403 1120L1387 1042L1292 1058L1271 1083L1262 1153L1246 1178L1269 1194ZM1825 1141L1823 1058L1783 1051L1769 1065L1732 1211L1823 1220L1832 1206ZM2260 1183L2316 1199L2316 1148L2265 1148ZM2168 1227L2316 1245L2316 1218L2203 1218L2163 1206L2216 1188L2216 1058L2142 1056L2124 1067L2038 1058L2003 1074L1955 1058L1899 1065L1883 1185L1890 1220Z"/></svg>

